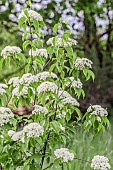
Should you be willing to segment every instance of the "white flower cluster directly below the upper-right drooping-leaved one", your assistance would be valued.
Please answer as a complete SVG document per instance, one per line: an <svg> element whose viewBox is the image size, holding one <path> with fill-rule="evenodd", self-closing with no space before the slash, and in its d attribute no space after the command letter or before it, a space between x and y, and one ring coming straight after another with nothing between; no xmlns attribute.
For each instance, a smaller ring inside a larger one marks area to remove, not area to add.
<svg viewBox="0 0 113 170"><path fill-rule="evenodd" d="M80 79L75 80L74 77L69 78L71 82L66 84L67 87L72 86L73 88L82 88L82 83Z"/></svg>

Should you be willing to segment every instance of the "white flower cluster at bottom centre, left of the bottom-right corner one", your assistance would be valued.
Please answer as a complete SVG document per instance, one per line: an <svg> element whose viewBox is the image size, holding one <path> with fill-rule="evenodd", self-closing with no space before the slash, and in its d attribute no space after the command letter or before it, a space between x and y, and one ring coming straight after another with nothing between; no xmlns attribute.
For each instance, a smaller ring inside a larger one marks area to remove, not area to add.
<svg viewBox="0 0 113 170"><path fill-rule="evenodd" d="M67 148L60 148L54 151L56 158L62 158L63 162L72 161L74 159L74 154L69 152Z"/></svg>

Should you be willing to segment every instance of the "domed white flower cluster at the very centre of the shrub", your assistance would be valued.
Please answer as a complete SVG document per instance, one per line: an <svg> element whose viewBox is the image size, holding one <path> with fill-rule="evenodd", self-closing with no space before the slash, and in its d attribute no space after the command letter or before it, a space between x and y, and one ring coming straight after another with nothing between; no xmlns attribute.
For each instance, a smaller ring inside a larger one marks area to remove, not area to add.
<svg viewBox="0 0 113 170"><path fill-rule="evenodd" d="M50 81L45 81L45 82L41 83L37 88L38 93L48 92L48 91L55 92L56 90L58 90L57 85Z"/></svg>

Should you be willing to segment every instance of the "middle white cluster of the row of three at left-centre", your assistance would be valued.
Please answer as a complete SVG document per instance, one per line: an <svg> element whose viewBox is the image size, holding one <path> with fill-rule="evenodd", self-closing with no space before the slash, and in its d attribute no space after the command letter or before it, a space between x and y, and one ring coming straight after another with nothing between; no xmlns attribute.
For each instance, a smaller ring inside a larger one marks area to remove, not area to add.
<svg viewBox="0 0 113 170"><path fill-rule="evenodd" d="M31 73L23 74L22 78L20 78L20 84L31 84L35 81L35 76Z"/></svg>

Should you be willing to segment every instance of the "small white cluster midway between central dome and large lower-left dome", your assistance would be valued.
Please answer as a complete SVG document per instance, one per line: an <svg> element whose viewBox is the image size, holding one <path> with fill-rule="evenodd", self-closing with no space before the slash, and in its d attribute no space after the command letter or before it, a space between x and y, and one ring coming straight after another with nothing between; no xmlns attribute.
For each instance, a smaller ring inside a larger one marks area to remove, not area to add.
<svg viewBox="0 0 113 170"><path fill-rule="evenodd" d="M39 106L39 105L35 105L34 106L34 110L32 111L32 114L40 114L40 113L45 113L47 114L48 113L48 110L46 107L42 107L42 106Z"/></svg>

